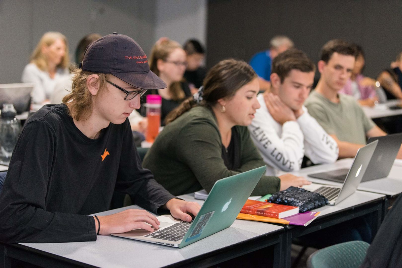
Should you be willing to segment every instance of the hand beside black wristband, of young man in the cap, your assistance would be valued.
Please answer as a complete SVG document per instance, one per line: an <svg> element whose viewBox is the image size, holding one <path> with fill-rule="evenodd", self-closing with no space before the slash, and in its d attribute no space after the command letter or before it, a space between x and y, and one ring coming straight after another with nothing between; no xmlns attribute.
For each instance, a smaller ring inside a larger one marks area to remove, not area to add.
<svg viewBox="0 0 402 268"><path fill-rule="evenodd" d="M95 219L95 218L94 218ZM160 222L154 215L143 209L127 209L119 213L107 216L98 216L100 223L100 235L111 233L125 233L133 229L142 228L150 232L159 229ZM152 225L152 227L150 225ZM98 221L95 219L96 232L98 232Z"/></svg>

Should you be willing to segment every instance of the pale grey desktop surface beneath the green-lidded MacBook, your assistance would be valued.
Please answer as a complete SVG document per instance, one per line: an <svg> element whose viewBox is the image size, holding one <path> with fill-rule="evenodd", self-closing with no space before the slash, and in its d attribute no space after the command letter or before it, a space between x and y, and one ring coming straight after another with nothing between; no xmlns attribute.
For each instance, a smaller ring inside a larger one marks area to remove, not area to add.
<svg viewBox="0 0 402 268"><path fill-rule="evenodd" d="M194 200L193 196L181 196L183 199L187 199L187 197ZM197 200L197 202L202 203L203 201ZM96 215L109 215L127 208L139 207L130 206L96 213ZM280 229L283 227L257 221L235 220L231 227L182 249L111 235L98 235L97 240L91 242L21 244L98 267L161 267L242 243Z"/></svg>

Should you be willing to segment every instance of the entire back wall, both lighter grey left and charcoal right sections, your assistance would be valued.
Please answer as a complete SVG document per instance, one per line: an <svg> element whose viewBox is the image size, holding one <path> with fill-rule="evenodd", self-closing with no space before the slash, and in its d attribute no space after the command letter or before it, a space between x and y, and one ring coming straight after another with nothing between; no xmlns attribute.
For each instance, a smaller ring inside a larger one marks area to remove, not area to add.
<svg viewBox="0 0 402 268"><path fill-rule="evenodd" d="M401 0L0 0L0 84L20 82L46 31L66 35L70 55L93 32L124 33L148 54L162 36L197 38L209 67L227 57L248 61L277 34L314 61L326 41L343 38L363 46L365 74L374 77L402 51L401 14Z"/></svg>

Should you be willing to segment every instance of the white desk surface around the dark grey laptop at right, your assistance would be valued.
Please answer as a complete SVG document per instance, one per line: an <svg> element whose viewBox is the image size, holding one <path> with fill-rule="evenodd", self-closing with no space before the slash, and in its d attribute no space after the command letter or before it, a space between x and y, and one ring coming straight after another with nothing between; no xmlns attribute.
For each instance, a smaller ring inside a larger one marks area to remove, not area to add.
<svg viewBox="0 0 402 268"><path fill-rule="evenodd" d="M352 163L353 158L345 158L336 161L334 164L322 164L322 165L311 166L308 168L302 168L298 172L292 172L292 174L297 176L303 176L308 180L310 180L311 182L315 183L341 186L342 184L339 182L332 182L330 180L311 178L308 176L308 174L337 170L340 168L349 169ZM391 168L391 172L387 178L361 182L357 190L373 192L378 194L386 194L390 196L400 194L402 192L402 161L395 160L394 165Z"/></svg>

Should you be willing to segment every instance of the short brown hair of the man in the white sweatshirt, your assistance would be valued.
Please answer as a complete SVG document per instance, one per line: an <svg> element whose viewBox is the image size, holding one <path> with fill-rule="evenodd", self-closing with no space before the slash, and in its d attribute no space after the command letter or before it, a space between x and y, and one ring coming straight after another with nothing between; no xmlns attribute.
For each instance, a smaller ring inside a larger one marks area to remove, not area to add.
<svg viewBox="0 0 402 268"><path fill-rule="evenodd" d="M291 70L309 73L315 72L316 66L306 53L299 49L290 48L273 59L271 73L277 74L281 78L281 83L283 83L283 80L285 80Z"/></svg>

